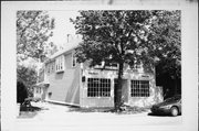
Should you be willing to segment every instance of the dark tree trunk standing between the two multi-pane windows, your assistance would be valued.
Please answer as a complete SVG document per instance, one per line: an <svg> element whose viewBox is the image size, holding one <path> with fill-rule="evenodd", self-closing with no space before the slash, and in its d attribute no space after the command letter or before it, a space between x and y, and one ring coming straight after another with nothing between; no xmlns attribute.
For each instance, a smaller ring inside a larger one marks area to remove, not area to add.
<svg viewBox="0 0 199 131"><path fill-rule="evenodd" d="M124 63L119 63L117 86L115 87L115 110L121 111L122 106L122 83L123 83L123 67Z"/></svg>

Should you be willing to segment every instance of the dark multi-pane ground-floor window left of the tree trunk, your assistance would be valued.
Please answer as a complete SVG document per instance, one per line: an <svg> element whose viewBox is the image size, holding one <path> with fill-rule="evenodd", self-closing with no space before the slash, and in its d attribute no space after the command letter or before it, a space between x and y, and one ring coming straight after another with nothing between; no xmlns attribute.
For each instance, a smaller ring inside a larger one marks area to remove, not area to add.
<svg viewBox="0 0 199 131"><path fill-rule="evenodd" d="M109 97L111 79L107 78L88 78L87 97Z"/></svg>

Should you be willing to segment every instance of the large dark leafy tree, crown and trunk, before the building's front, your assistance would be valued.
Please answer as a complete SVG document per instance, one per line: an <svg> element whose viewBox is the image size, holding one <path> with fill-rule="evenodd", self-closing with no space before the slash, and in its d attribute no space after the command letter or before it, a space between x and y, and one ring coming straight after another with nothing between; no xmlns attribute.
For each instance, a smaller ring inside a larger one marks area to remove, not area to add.
<svg viewBox="0 0 199 131"><path fill-rule="evenodd" d="M143 64L146 70L153 70L156 63L163 56L168 57L167 43L163 36L157 34L161 23L159 14L161 11L80 11L72 22L75 24L76 33L83 35L83 42L77 47L77 62L91 61L91 66L100 64L117 63L118 86L115 89L115 109L119 110L122 105L122 79L124 65L130 67ZM168 11L169 12L169 11ZM166 20L169 20L166 19ZM166 31L167 23L165 23ZM175 28L174 25L171 28ZM160 30L160 31L161 31ZM164 32L163 31L163 32ZM160 39L160 40L159 40ZM164 40L164 42L161 42ZM161 50L163 51L161 51ZM171 53L172 54L172 53Z"/></svg>

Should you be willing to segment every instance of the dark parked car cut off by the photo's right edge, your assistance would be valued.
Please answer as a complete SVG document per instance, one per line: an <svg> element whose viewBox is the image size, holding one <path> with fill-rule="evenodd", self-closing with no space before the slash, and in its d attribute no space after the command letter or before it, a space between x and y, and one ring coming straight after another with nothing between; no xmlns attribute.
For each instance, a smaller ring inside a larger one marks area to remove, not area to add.
<svg viewBox="0 0 199 131"><path fill-rule="evenodd" d="M168 98L160 103L154 105L150 108L154 114L171 114L174 117L181 114L181 96Z"/></svg>

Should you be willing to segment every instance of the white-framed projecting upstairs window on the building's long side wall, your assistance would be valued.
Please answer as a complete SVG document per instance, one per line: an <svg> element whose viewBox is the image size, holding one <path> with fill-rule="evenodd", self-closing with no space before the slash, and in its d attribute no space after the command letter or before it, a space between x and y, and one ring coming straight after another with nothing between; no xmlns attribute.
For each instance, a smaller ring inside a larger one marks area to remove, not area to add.
<svg viewBox="0 0 199 131"><path fill-rule="evenodd" d="M61 55L59 57L56 57L55 59L55 72L60 73L60 72L64 72L64 55Z"/></svg>

